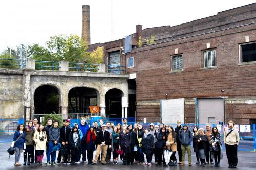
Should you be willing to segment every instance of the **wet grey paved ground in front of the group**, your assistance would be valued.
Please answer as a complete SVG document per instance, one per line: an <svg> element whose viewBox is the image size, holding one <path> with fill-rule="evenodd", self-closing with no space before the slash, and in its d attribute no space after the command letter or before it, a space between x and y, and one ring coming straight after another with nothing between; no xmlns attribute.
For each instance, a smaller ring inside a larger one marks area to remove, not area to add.
<svg viewBox="0 0 256 170"><path fill-rule="evenodd" d="M1 165L0 165L0 169L6 169L6 170L11 170L11 169L61 169L61 170L67 170L67 169L76 169L76 170L80 170L80 169L95 169L95 170L105 170L105 169L128 169L128 168L132 168L132 169L229 169L227 167L227 158L226 158L226 153L225 151L223 151L223 155L224 155L224 159L221 160L220 166L221 167L214 167L213 165L207 165L205 168L202 168L200 166L197 166L195 164L196 162L196 157L195 154L193 153L193 166L189 167L188 166L188 162L185 162L185 166L183 167L166 167L166 166L156 166L153 162L153 165L151 167L145 166L145 165L128 165L128 166L124 166L121 165L121 163L119 165L112 165L112 164L108 164L108 165L88 165L87 163L80 163L77 166L70 166L70 165L55 165L55 166L47 166L47 165L42 165L42 166L36 166L35 164L31 164L31 165L26 165L26 166L19 166L19 167L15 167L14 166L14 155L10 156L10 159L8 159L8 153L6 152L6 150L8 149L8 147L10 146L10 143L0 143L0 160L1 160ZM177 154L176 154L177 155ZM248 151L239 151L238 152L238 168L237 169L256 169L256 153L255 152L248 152ZM23 161L23 156L20 159L20 163ZM153 158L154 160L154 158ZM186 158L187 160L187 158ZM46 162L46 157L44 157L43 163ZM230 170L230 169L229 169Z"/></svg>

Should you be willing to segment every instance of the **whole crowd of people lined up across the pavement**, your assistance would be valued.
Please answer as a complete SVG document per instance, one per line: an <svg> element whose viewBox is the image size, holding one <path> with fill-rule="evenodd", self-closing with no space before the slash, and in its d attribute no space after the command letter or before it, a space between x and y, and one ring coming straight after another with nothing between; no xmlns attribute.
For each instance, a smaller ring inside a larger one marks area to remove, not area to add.
<svg viewBox="0 0 256 170"><path fill-rule="evenodd" d="M47 165L58 165L61 160L64 164L77 165L81 159L91 165L96 165L97 162L105 165L111 163L112 156L113 165L120 161L123 165L152 166L154 154L156 165L184 166L187 152L188 165L192 166L191 143L196 153L197 165L205 167L206 164L215 162L214 166L219 167L223 158L221 134L217 127L211 128L208 123L205 129L195 126L192 131L186 124L181 126L180 120L175 128L168 124L151 123L148 129L139 123L129 124L126 118L122 125L118 123L116 126L112 122L103 124L103 120L99 120L99 123L94 121L89 126L85 117L81 117L81 122L73 127L70 126L70 119L63 120L60 128L59 122L51 118L47 120L46 126L37 123L35 118L26 127L23 124L18 125L11 144L15 148L15 166L21 165L19 160L22 153L23 165L34 162L42 165L45 150ZM236 168L239 134L234 128L234 122L228 122L223 137L228 167ZM167 161L164 151L171 153Z"/></svg>

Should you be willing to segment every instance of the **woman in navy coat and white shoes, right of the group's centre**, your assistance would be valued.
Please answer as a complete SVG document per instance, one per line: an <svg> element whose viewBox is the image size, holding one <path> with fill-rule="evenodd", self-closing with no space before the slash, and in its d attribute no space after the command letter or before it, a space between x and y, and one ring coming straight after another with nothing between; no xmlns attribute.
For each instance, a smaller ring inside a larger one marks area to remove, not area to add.
<svg viewBox="0 0 256 170"><path fill-rule="evenodd" d="M145 165L151 166L151 160L152 160L152 154L151 154L151 147L154 143L154 137L151 135L148 131L148 129L145 129L144 136L142 138L142 149L143 152L146 154L146 161L147 163Z"/></svg>

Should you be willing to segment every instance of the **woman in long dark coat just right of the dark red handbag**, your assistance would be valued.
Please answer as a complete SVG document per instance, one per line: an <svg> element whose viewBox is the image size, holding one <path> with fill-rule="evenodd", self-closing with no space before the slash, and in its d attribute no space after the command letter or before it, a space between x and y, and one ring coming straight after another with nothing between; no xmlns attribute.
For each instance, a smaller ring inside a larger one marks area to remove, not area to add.
<svg viewBox="0 0 256 170"><path fill-rule="evenodd" d="M126 124L123 124L123 129L119 133L119 149L123 151L123 165L127 165L131 153L131 134Z"/></svg>

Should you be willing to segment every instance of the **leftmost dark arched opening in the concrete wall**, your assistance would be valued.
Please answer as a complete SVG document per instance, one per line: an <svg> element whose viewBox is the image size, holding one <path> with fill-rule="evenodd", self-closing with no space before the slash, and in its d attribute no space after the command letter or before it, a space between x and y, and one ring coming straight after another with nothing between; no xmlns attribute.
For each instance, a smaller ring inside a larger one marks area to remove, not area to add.
<svg viewBox="0 0 256 170"><path fill-rule="evenodd" d="M34 94L34 114L50 114L55 112L59 113L59 92L58 89L50 86L43 85L35 90Z"/></svg>

